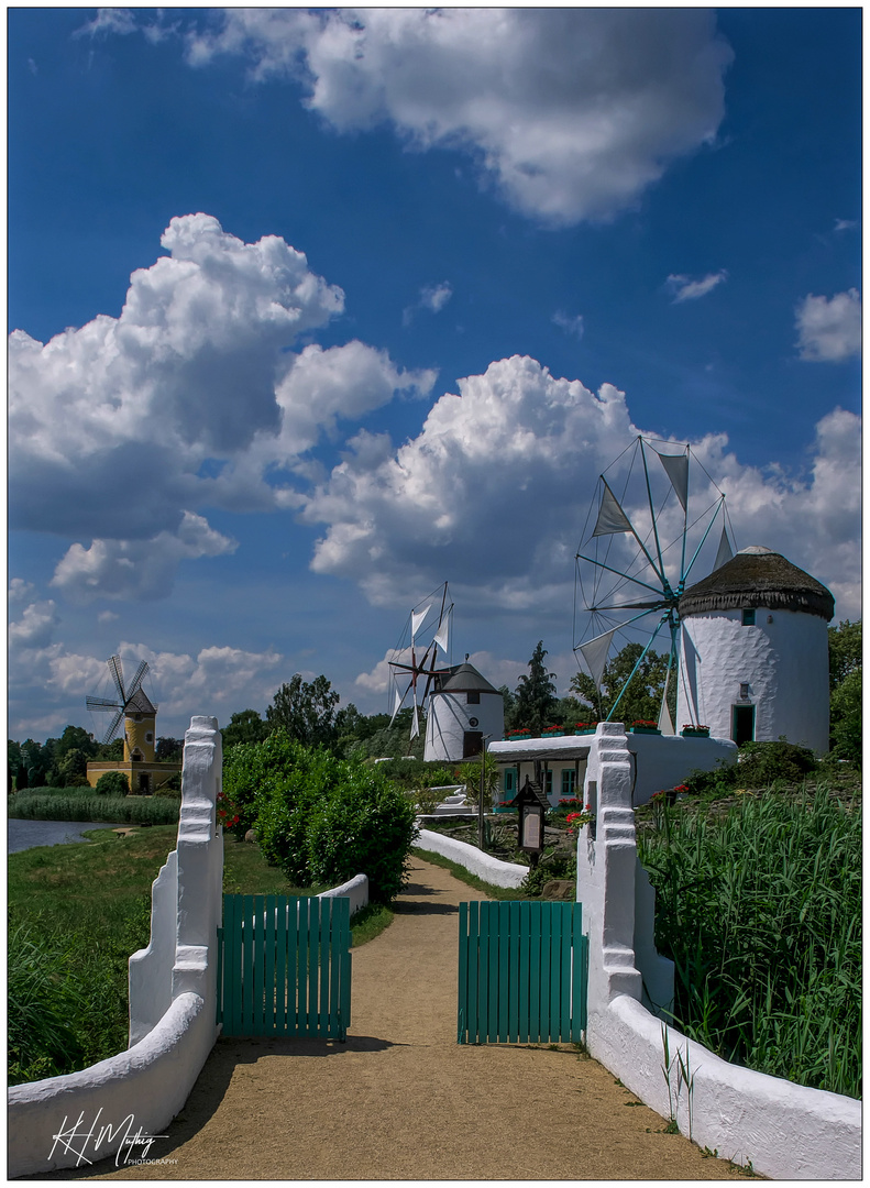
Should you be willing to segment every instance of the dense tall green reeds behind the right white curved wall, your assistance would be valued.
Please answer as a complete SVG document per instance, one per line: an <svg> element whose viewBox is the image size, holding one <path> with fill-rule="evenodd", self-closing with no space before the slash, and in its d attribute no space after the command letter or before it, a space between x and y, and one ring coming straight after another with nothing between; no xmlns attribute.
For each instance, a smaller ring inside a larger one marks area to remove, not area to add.
<svg viewBox="0 0 870 1188"><path fill-rule="evenodd" d="M860 1097L860 810L824 786L719 820L663 805L639 853L676 1025L725 1060Z"/></svg>

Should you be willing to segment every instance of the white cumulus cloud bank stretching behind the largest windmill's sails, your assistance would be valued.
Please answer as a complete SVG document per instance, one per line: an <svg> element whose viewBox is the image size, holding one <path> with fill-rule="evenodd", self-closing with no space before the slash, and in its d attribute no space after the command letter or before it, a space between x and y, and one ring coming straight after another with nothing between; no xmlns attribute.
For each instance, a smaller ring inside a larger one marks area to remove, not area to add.
<svg viewBox="0 0 870 1188"><path fill-rule="evenodd" d="M359 434L308 499L324 525L313 568L358 582L382 605L414 602L449 575L458 602L563 613L574 554L601 468L639 431L625 396L554 378L513 356L445 394L398 448ZM859 422L834 410L818 425L812 466L790 476L748 467L711 434L693 450L727 492L738 546L765 544L831 586L859 613ZM706 506L713 488L693 499ZM699 503L699 512L702 510ZM668 539L676 518L663 520ZM700 576L700 575L699 575Z"/></svg>

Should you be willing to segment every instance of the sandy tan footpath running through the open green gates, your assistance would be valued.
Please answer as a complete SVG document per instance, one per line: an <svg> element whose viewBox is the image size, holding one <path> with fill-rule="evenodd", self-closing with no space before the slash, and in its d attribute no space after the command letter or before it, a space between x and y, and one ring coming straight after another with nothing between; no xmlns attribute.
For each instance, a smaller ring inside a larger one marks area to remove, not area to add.
<svg viewBox="0 0 870 1188"><path fill-rule="evenodd" d="M743 1178L567 1044L458 1044L456 904L483 896L418 859L411 879L354 952L346 1043L220 1040L150 1152L177 1162L88 1178Z"/></svg>

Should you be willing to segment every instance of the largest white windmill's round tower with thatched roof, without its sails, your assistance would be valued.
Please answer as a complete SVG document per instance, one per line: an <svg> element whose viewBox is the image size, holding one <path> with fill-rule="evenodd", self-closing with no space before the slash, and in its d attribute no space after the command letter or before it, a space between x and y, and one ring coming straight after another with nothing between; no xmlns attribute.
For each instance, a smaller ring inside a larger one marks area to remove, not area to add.
<svg viewBox="0 0 870 1188"><path fill-rule="evenodd" d="M759 545L691 587L680 599L677 729L827 751L833 613L821 582Z"/></svg>

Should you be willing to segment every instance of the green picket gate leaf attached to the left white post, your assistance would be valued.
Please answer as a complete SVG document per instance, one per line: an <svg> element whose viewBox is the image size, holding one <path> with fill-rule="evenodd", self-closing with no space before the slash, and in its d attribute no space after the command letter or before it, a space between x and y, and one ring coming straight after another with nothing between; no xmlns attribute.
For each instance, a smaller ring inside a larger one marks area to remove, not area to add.
<svg viewBox="0 0 870 1188"><path fill-rule="evenodd" d="M227 1036L343 1040L351 1022L351 903L225 895L218 1022Z"/></svg>

